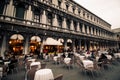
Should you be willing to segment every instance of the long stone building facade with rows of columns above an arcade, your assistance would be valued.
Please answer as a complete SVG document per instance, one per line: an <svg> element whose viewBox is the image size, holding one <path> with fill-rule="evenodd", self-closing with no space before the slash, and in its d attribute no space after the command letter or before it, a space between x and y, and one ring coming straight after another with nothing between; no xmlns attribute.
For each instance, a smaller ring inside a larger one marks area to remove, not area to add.
<svg viewBox="0 0 120 80"><path fill-rule="evenodd" d="M30 52L33 36L40 38L40 51L48 37L61 39L73 50L118 48L111 25L74 0L0 0L0 53L11 47L11 36L22 36L21 53ZM38 43L39 44L39 43ZM19 46L18 46L19 47Z"/></svg>

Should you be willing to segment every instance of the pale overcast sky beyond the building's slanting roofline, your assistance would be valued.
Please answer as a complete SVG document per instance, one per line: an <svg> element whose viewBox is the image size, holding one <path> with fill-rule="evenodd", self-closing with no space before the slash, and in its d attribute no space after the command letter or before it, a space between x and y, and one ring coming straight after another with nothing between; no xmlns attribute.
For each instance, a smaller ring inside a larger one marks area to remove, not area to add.
<svg viewBox="0 0 120 80"><path fill-rule="evenodd" d="M74 0L92 13L110 23L111 28L120 28L120 0Z"/></svg>

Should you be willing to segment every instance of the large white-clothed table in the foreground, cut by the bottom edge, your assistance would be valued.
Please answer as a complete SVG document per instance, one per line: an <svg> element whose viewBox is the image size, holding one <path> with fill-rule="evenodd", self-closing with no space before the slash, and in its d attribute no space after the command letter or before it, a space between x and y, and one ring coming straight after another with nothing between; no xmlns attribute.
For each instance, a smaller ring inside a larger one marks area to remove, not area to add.
<svg viewBox="0 0 120 80"><path fill-rule="evenodd" d="M54 80L51 69L40 69L36 71L34 80Z"/></svg>

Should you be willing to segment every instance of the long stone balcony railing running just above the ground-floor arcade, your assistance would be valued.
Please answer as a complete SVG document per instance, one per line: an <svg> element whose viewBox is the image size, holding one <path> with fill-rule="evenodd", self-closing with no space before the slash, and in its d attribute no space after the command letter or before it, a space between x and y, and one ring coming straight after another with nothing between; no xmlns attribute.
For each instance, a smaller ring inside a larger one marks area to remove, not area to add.
<svg viewBox="0 0 120 80"><path fill-rule="evenodd" d="M30 20L5 16L5 15L0 15L0 22L11 23L11 24L16 24L16 25L23 25L23 26L28 26L28 27L32 27L32 28L34 27L34 28L38 28L38 29L51 30L51 31L63 32L63 33L70 33L70 34L79 35L79 36L82 35L82 36L86 36L86 37L93 37L93 38L99 38L99 39L101 38L101 39L107 39L107 40L109 40L109 39L115 40L113 38L106 38L106 37L92 35L92 34L90 35L87 33L82 33L80 31L70 30L70 29L66 29L66 28L62 28L62 27L52 26L52 25L43 24L40 22L34 22L34 21L30 21Z"/></svg>

